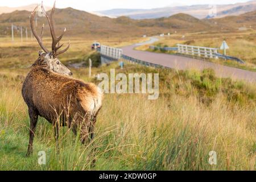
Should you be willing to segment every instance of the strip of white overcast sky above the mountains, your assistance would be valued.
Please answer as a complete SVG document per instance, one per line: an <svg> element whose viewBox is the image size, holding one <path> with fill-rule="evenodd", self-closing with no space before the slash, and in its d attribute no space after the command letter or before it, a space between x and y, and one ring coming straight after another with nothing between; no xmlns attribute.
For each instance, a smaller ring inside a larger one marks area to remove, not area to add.
<svg viewBox="0 0 256 182"><path fill-rule="evenodd" d="M41 1L42 0L0 0L0 6L18 7L40 3ZM56 7L73 7L74 9L84 11L98 11L109 9L152 9L175 5L219 5L247 1L249 0L56 0ZM44 0L44 5L52 6L53 2L54 0Z"/></svg>

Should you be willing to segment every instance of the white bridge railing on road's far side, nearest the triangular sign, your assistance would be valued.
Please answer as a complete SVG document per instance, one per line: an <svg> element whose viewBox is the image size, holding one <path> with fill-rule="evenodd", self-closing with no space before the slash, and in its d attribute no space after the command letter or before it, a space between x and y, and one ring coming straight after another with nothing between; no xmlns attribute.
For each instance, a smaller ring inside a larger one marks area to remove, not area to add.
<svg viewBox="0 0 256 182"><path fill-rule="evenodd" d="M218 53L217 48L188 46L182 44L177 44L177 47L179 53L218 59L218 56L216 55Z"/></svg>

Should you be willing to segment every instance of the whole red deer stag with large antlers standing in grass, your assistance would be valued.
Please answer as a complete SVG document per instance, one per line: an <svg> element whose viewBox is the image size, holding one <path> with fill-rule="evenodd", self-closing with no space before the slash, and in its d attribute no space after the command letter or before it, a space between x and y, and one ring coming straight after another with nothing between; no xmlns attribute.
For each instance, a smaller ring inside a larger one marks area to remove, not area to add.
<svg viewBox="0 0 256 182"><path fill-rule="evenodd" d="M22 96L28 106L30 116L30 140L27 156L32 154L33 139L35 135L38 116L46 118L55 129L55 139L59 135L59 126L68 126L73 133L79 134L82 143L93 138L94 124L98 111L101 109L102 92L92 83L85 83L71 78L71 71L57 59L57 56L68 50L58 51L63 44L59 45L64 35L56 37L53 25L55 3L51 14L48 15L43 8L44 15L49 23L52 36L52 51L43 45L42 27L41 35L36 33L34 19L36 9L30 17L31 30L38 40L44 52L39 51L39 57L32 65L26 80L23 83Z"/></svg>

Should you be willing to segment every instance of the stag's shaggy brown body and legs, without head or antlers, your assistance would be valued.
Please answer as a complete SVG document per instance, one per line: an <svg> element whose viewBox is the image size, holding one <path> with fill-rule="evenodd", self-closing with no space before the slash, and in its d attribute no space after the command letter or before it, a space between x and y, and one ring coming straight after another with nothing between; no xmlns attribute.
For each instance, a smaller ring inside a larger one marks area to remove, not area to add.
<svg viewBox="0 0 256 182"><path fill-rule="evenodd" d="M56 140L59 126L68 126L75 134L80 131L81 142L84 143L89 134L90 138L93 137L94 124L101 108L102 93L96 85L51 71L44 56L40 55L32 65L22 88L31 119L28 156L32 153L38 115L56 128Z"/></svg>

